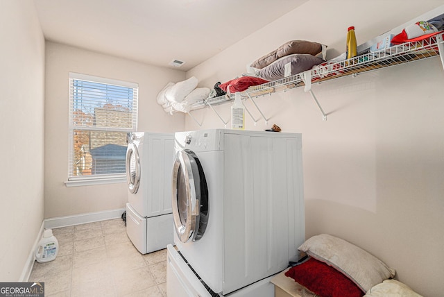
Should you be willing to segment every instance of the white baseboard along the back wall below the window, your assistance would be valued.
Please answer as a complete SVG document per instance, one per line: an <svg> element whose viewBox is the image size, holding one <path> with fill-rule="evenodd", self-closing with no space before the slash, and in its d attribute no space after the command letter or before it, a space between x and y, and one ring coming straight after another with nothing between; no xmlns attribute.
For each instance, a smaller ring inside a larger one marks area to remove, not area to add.
<svg viewBox="0 0 444 297"><path fill-rule="evenodd" d="M87 214L76 214L74 216L57 217L44 220L45 229L61 228L67 226L80 225L83 223L94 223L120 218L125 208L119 210L105 210L103 212L89 212Z"/></svg>

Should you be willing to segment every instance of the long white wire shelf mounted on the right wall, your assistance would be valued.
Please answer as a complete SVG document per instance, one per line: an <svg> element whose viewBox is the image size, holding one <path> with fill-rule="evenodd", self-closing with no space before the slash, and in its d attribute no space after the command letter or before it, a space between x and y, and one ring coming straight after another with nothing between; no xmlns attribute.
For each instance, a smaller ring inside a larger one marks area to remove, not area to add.
<svg viewBox="0 0 444 297"><path fill-rule="evenodd" d="M425 40L391 46L347 60L329 60L310 70L311 84L322 83L343 76L356 76L368 71L439 56L438 47L443 46L443 35L444 33L439 33ZM244 92L241 92L241 95L243 98L254 98L302 86L305 86L303 72L262 85L249 87ZM233 100L234 94L218 96L194 103L191 105L191 110L205 108L207 105L228 103Z"/></svg>

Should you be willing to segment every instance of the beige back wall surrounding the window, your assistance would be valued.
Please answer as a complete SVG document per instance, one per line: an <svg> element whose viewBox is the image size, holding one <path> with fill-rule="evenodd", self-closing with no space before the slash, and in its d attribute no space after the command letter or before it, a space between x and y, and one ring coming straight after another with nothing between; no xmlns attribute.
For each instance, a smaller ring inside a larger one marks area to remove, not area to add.
<svg viewBox="0 0 444 297"><path fill-rule="evenodd" d="M68 178L69 72L139 84L138 130L183 130L183 114L171 117L157 104L157 93L185 72L144 65L72 46L46 42L44 217L116 210L128 201L126 183L66 187Z"/></svg>

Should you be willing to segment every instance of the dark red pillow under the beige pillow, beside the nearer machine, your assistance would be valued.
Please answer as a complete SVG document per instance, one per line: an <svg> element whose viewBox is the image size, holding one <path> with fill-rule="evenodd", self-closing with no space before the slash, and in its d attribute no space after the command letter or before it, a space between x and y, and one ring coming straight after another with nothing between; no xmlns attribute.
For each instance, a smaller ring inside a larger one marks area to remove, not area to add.
<svg viewBox="0 0 444 297"><path fill-rule="evenodd" d="M300 285L322 297L361 297L364 292L332 266L310 258L285 273Z"/></svg>

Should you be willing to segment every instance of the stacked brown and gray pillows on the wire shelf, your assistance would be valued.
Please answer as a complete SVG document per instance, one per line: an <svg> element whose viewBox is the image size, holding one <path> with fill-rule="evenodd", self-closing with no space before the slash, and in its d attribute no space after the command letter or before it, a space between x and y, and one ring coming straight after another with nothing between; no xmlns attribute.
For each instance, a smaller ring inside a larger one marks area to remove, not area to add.
<svg viewBox="0 0 444 297"><path fill-rule="evenodd" d="M292 76L325 62L325 48L318 42L291 40L255 60L247 71L268 81Z"/></svg>

